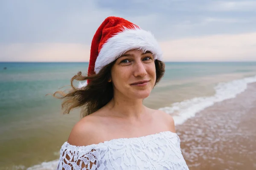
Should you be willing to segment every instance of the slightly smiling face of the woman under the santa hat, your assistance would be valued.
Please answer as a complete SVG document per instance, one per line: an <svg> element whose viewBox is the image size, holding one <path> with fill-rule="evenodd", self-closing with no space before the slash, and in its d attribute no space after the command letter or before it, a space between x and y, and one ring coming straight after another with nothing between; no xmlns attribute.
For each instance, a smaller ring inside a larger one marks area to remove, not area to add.
<svg viewBox="0 0 256 170"><path fill-rule="evenodd" d="M145 99L156 82L156 68L151 52L130 50L116 59L111 68L114 94L131 99Z"/></svg>

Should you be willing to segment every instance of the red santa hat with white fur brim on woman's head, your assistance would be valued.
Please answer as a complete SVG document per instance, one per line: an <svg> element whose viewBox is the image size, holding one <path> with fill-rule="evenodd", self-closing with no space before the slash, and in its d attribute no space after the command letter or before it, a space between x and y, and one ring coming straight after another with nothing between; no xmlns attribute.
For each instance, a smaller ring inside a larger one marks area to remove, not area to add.
<svg viewBox="0 0 256 170"><path fill-rule="evenodd" d="M131 49L151 51L154 59L162 60L162 51L149 31L120 17L107 17L97 29L90 49L88 76L98 74L102 67ZM79 83L82 88L90 83Z"/></svg>

